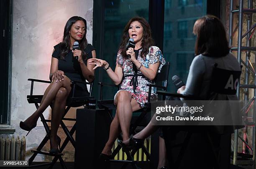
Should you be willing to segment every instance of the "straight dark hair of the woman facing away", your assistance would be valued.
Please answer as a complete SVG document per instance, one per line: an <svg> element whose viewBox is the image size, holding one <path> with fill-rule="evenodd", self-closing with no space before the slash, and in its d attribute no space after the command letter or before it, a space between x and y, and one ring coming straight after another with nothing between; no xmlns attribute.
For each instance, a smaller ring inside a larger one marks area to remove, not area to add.
<svg viewBox="0 0 256 169"><path fill-rule="evenodd" d="M206 15L195 22L193 33L197 35L195 54L212 57L228 55L230 48L223 24L218 17Z"/></svg>

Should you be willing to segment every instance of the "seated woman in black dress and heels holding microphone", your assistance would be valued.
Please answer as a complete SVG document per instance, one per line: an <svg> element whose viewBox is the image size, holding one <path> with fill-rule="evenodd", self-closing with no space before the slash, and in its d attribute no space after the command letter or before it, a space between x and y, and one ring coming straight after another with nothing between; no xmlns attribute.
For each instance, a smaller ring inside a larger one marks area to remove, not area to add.
<svg viewBox="0 0 256 169"><path fill-rule="evenodd" d="M82 17L71 17L65 27L63 41L54 46L51 58L51 84L44 92L40 106L28 119L20 122L20 128L31 131L44 110L53 102L51 112L50 153L58 153L60 138L57 136L59 124L65 111L66 101L72 89L70 80L92 82L94 79L94 65L87 65L90 58L96 58L96 52L86 39L87 23ZM79 42L82 50L72 50L74 42ZM78 57L77 57L78 56ZM77 59L76 59L77 57ZM86 85L77 84L76 97L89 96Z"/></svg>

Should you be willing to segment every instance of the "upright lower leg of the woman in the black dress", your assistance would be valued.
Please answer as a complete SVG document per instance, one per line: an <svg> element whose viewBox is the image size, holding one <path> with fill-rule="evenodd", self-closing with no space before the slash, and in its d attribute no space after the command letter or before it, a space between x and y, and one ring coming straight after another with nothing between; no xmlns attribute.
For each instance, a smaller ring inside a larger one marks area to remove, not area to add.
<svg viewBox="0 0 256 169"><path fill-rule="evenodd" d="M57 131L59 129L59 124L63 117L66 107L67 97L69 95L70 89L67 90L64 87L61 87L54 99L54 106L51 112L51 136L50 144L51 149L57 149Z"/></svg>

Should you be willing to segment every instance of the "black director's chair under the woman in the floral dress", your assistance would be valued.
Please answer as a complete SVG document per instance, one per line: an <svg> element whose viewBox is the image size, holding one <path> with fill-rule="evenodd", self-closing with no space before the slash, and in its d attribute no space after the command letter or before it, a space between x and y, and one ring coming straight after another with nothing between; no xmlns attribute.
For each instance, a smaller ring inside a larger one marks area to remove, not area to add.
<svg viewBox="0 0 256 169"><path fill-rule="evenodd" d="M170 62L166 62L166 64L162 67L161 72L157 73L156 78L154 80L155 84L149 84L149 91L148 91L148 102L145 104L145 106L139 110L137 110L136 112L140 113L140 115L138 117L133 117L131 120L131 126L130 126L130 134L136 134L138 131L136 130L138 127L145 127L146 124L148 124L148 122L151 119L151 114L148 113L151 111L151 90L152 87L156 87L158 89L162 89L164 91L167 91L167 86L168 86L168 77L169 77L169 68L170 68ZM104 108L107 109L109 114L110 114L110 118L113 120L113 116L112 116L112 110L114 109L114 105L113 105L113 100L102 100L102 89L103 86L110 86L110 87L118 87L118 85L111 85L111 84L105 84L102 82L99 82L100 85L100 100L97 102L98 106L100 108ZM149 117L149 118L147 118ZM122 136L120 135L118 137L118 139L122 140ZM116 156L116 154L118 154L118 152L120 151L122 147L120 145L118 145L118 147L116 147L114 149L114 151L111 154L111 157L114 158ZM134 169L137 168L135 161L133 160L133 156L134 154L137 152L137 150L133 150L131 153L130 152L125 152L125 154L127 155L127 160L110 160L110 162L122 162L123 167L125 168L127 167L127 165L130 163L132 165L132 167ZM149 160L150 159L150 153L148 152L148 149L146 149L145 146L142 147L142 152L144 152L146 154L146 159Z"/></svg>

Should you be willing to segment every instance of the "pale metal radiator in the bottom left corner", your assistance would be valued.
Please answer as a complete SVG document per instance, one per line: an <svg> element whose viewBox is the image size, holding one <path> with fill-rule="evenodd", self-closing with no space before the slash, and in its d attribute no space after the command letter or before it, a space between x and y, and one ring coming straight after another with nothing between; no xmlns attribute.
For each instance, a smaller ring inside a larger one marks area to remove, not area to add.
<svg viewBox="0 0 256 169"><path fill-rule="evenodd" d="M26 139L0 137L0 160L25 160Z"/></svg>

